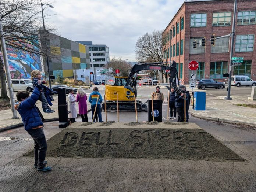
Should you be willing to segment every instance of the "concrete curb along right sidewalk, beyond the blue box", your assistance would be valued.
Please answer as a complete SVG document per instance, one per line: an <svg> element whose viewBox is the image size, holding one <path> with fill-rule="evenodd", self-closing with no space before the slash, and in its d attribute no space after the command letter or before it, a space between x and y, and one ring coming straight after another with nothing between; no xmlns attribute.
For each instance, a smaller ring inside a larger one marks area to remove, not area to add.
<svg viewBox="0 0 256 192"><path fill-rule="evenodd" d="M224 123L232 123L232 124L235 124L235 125L246 125L246 126L250 126L252 128L256 128L256 123L246 123L246 122L242 122L242 121L235 121L235 120L229 120L229 119L223 119L223 118L217 118L217 117L208 117L208 116L195 114L192 111L190 111L190 112L191 112L191 115L193 117L204 119L204 120L224 122Z"/></svg>

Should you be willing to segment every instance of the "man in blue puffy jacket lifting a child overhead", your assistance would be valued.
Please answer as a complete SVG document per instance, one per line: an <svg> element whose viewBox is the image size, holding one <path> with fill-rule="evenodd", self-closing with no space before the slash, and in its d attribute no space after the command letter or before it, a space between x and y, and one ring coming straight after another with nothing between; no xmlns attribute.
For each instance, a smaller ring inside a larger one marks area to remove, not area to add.
<svg viewBox="0 0 256 192"><path fill-rule="evenodd" d="M25 130L30 134L34 140L34 167L38 171L50 171L51 167L46 166L45 161L47 143L45 134L43 132L43 116L36 107L36 101L38 100L40 92L38 87L35 87L31 96L28 91L18 91L16 94L18 102L15 104L15 109L19 112L22 118L22 122Z"/></svg>

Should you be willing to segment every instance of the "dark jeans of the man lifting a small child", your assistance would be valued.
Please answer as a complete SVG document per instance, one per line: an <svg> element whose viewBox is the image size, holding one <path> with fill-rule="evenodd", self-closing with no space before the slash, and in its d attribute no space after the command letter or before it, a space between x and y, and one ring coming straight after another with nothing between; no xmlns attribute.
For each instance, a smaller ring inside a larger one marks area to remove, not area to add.
<svg viewBox="0 0 256 192"><path fill-rule="evenodd" d="M43 128L28 130L28 134L30 134L30 136L34 139L35 165L41 169L45 166L43 162L45 160L47 151L47 143L45 134L43 133Z"/></svg>

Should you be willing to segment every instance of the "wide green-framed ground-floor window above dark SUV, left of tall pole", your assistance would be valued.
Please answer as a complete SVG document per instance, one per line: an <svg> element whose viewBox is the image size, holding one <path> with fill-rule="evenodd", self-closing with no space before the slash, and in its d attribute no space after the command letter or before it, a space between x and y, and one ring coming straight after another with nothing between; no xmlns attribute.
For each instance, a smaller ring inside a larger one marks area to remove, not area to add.
<svg viewBox="0 0 256 192"><path fill-rule="evenodd" d="M211 62L210 66L210 78L212 79L223 79L223 73L228 72L228 62Z"/></svg>

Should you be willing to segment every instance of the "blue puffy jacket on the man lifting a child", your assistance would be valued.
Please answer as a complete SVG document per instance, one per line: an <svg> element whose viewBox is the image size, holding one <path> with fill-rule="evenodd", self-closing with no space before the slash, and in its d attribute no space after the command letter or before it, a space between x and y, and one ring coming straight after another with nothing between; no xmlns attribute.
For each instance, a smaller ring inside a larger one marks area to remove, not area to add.
<svg viewBox="0 0 256 192"><path fill-rule="evenodd" d="M31 96L28 97L28 99L15 104L15 109L21 115L23 126L26 131L43 125L42 119L35 106L39 95L40 91L38 87L35 87L34 91L32 92Z"/></svg>

